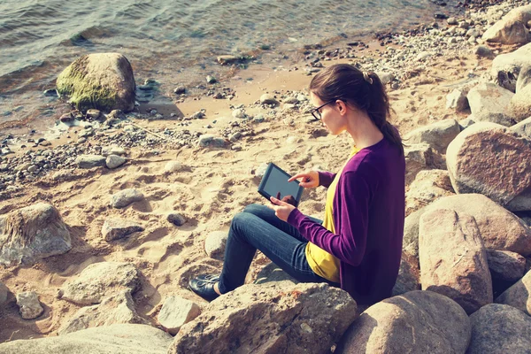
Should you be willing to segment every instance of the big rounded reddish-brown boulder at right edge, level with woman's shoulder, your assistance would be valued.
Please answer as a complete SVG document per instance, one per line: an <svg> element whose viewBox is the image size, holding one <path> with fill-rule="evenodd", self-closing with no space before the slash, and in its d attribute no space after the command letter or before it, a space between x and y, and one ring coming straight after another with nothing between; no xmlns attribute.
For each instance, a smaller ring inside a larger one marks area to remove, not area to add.
<svg viewBox="0 0 531 354"><path fill-rule="evenodd" d="M476 123L446 151L458 194L480 193L510 211L531 210L531 140L494 123ZM503 176L503 178L501 178Z"/></svg>

